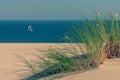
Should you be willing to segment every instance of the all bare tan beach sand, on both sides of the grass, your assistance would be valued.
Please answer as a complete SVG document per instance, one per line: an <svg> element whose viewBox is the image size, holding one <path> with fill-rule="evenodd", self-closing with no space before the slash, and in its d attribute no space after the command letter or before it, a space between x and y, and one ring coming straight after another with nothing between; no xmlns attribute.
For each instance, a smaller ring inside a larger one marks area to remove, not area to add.
<svg viewBox="0 0 120 80"><path fill-rule="evenodd" d="M0 80L20 80L27 74L12 74L16 70L22 70L15 55L21 55L28 59L33 56L29 54L39 54L38 49L45 50L50 46L61 47L67 44L54 43L0 43ZM92 69L82 73L73 73L57 80L120 80L120 60L107 60L105 64L97 69Z"/></svg>

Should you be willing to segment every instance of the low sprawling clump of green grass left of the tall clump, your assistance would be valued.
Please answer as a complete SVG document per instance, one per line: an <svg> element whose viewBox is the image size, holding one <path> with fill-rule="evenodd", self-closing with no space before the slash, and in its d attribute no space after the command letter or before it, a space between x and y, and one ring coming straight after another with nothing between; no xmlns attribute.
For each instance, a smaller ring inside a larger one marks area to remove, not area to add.
<svg viewBox="0 0 120 80"><path fill-rule="evenodd" d="M41 52L44 52L45 56L40 57L40 55L33 54L36 57L36 60L32 61L33 64L24 57L18 56L32 73L32 76L23 80L37 80L54 74L88 69L86 67L87 55L80 55L72 44L70 44L70 47L64 47L64 49L50 48Z"/></svg>

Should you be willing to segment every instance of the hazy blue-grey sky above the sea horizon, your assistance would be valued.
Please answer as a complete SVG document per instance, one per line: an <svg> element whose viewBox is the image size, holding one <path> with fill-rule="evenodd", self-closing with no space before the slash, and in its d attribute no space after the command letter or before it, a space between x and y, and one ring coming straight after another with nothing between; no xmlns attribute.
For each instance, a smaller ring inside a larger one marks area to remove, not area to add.
<svg viewBox="0 0 120 80"><path fill-rule="evenodd" d="M0 20L75 20L120 10L120 0L0 0Z"/></svg>

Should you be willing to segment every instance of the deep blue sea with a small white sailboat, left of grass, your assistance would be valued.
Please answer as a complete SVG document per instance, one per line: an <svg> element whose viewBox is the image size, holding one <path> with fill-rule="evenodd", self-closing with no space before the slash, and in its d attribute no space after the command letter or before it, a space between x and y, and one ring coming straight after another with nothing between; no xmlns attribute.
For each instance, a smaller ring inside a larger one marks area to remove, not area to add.
<svg viewBox="0 0 120 80"><path fill-rule="evenodd" d="M3 20L0 43L65 43L76 21L72 20Z"/></svg>

